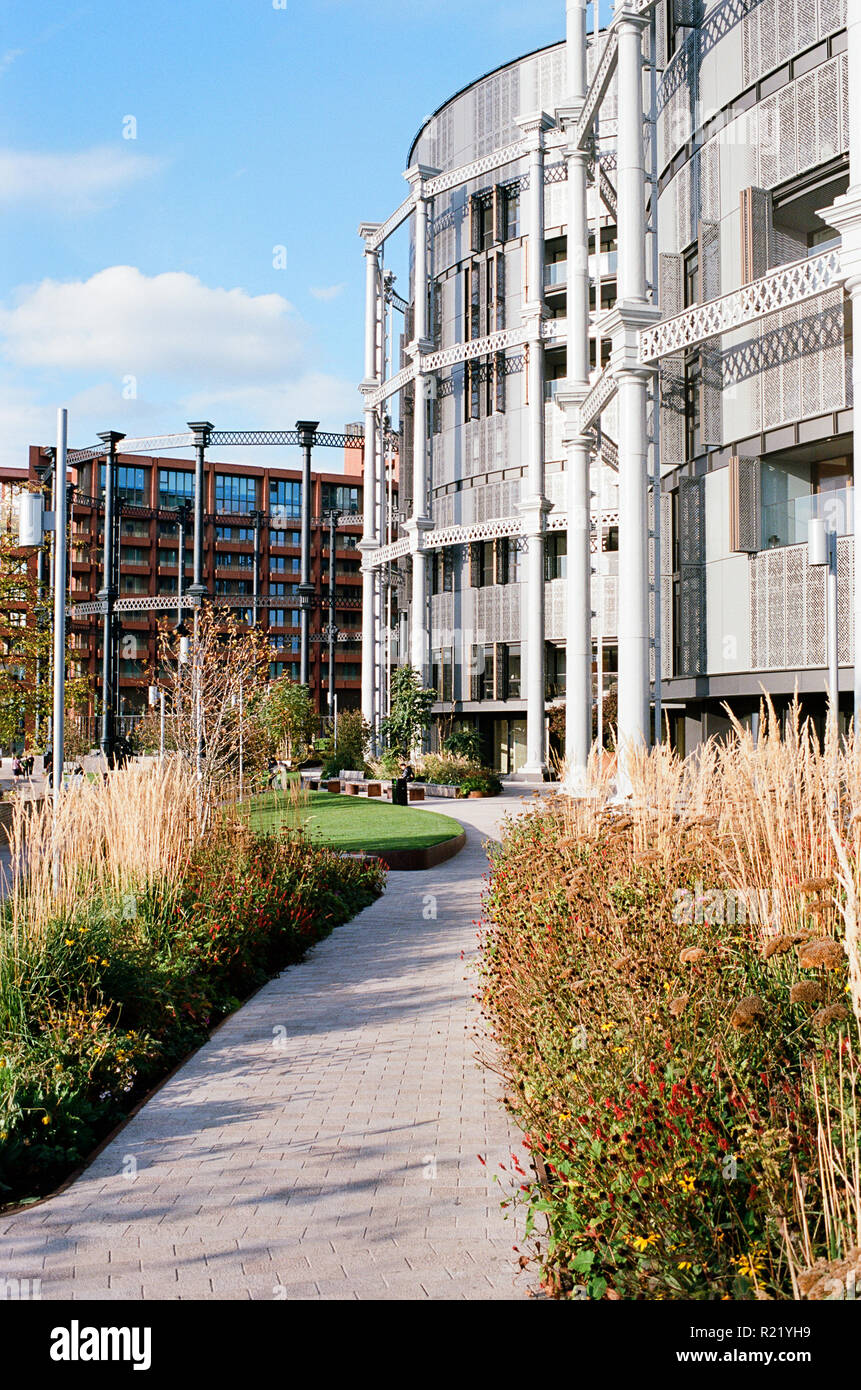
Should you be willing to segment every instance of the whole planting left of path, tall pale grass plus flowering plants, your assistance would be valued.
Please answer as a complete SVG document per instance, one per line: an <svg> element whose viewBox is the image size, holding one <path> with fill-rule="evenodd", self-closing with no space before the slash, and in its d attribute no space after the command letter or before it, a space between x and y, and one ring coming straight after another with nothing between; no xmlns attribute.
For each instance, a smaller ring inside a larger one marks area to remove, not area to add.
<svg viewBox="0 0 861 1390"><path fill-rule="evenodd" d="M250 991L383 891L377 862L198 833L181 760L18 819L0 909L0 1205L49 1191Z"/></svg>

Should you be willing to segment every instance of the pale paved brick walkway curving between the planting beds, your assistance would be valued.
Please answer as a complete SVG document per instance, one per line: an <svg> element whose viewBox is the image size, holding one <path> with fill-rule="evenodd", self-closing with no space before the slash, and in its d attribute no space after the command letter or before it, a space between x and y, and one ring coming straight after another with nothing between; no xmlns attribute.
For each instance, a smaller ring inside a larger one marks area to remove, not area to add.
<svg viewBox="0 0 861 1390"><path fill-rule="evenodd" d="M492 1182L524 1151L472 998L481 847L522 795L459 802L455 859L389 874L65 1193L0 1218L0 1277L43 1298L526 1297Z"/></svg>

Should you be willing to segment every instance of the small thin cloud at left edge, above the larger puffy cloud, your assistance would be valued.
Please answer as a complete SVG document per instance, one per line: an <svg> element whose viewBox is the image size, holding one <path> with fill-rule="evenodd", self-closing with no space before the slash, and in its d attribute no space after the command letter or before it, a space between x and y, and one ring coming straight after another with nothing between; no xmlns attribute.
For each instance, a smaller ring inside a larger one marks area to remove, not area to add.
<svg viewBox="0 0 861 1390"><path fill-rule="evenodd" d="M8 56L7 56L8 57ZM100 145L72 154L0 150L0 204L45 203L51 211L103 207L113 195L161 168L161 160L128 145Z"/></svg>

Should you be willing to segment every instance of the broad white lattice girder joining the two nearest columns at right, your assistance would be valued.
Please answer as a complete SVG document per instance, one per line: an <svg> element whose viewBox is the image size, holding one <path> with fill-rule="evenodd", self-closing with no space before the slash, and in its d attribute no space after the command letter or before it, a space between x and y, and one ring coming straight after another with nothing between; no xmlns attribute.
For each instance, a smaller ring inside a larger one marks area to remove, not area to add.
<svg viewBox="0 0 861 1390"><path fill-rule="evenodd" d="M694 304L683 314L665 318L654 328L644 328L638 335L640 361L658 361L673 353L695 348L719 334L743 328L776 310L789 309L805 299L823 295L843 284L846 275L840 270L840 253L826 252L807 260L780 265L768 275L761 275L750 285L741 285L729 295L709 299L705 304Z"/></svg>

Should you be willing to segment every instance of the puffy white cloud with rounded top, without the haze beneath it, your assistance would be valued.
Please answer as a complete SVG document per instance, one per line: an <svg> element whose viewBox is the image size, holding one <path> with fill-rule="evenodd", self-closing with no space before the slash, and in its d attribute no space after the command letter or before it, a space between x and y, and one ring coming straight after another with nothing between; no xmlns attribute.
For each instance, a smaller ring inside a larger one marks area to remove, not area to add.
<svg viewBox="0 0 861 1390"><path fill-rule="evenodd" d="M17 367L179 378L177 385L274 381L298 366L306 328L281 295L211 289L184 271L111 265L88 281L46 279L0 309Z"/></svg>

